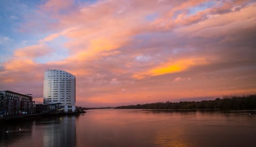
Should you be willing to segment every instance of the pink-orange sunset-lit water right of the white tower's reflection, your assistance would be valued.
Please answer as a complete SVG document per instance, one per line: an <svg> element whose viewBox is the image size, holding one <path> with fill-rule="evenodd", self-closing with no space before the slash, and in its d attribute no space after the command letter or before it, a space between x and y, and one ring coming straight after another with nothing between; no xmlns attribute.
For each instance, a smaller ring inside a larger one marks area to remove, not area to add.
<svg viewBox="0 0 256 147"><path fill-rule="evenodd" d="M77 146L252 146L255 122L219 111L90 110L77 122Z"/></svg>

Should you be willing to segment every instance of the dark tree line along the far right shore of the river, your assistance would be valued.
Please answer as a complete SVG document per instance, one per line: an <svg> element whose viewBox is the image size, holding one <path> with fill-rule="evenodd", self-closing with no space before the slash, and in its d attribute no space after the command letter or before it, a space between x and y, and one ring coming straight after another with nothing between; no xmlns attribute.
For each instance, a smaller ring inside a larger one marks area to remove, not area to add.
<svg viewBox="0 0 256 147"><path fill-rule="evenodd" d="M256 109L256 95L223 96L223 99L201 102L158 102L137 105L126 105L116 109Z"/></svg>

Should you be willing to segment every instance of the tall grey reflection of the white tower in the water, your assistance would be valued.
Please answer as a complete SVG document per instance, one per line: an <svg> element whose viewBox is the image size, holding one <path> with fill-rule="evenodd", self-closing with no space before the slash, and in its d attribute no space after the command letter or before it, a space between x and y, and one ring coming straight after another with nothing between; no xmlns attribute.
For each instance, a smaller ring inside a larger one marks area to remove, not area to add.
<svg viewBox="0 0 256 147"><path fill-rule="evenodd" d="M76 146L75 117L59 117L45 127L43 146Z"/></svg>

